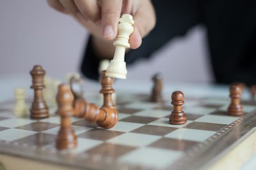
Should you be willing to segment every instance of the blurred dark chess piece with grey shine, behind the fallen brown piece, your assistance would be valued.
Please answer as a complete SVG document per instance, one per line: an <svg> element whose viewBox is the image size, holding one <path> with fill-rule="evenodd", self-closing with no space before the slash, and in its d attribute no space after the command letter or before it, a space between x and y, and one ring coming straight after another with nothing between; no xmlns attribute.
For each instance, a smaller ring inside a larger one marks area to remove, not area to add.
<svg viewBox="0 0 256 170"><path fill-rule="evenodd" d="M84 92L82 83L83 80L81 78L77 78L76 76L72 76L70 79L70 87L75 99L83 99Z"/></svg>

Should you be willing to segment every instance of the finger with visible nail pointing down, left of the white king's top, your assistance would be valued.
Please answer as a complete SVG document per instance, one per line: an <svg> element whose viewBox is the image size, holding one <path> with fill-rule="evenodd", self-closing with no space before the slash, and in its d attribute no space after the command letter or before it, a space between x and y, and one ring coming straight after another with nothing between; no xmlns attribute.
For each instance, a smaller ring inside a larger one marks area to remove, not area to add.
<svg viewBox="0 0 256 170"><path fill-rule="evenodd" d="M102 26L104 39L112 40L117 34L117 25L122 10L122 0L102 0Z"/></svg>

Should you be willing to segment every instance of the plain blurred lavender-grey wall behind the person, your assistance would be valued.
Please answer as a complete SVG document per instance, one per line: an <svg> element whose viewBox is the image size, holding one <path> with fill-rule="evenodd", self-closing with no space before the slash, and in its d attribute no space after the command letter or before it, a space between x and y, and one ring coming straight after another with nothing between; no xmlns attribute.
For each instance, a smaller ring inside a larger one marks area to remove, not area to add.
<svg viewBox="0 0 256 170"><path fill-rule="evenodd" d="M0 13L0 76L28 74L35 64L58 79L80 71L88 32L73 18L52 10L46 0L0 1ZM166 82L211 83L208 59L205 29L197 26L150 60L127 67L127 78L148 81L161 72Z"/></svg>

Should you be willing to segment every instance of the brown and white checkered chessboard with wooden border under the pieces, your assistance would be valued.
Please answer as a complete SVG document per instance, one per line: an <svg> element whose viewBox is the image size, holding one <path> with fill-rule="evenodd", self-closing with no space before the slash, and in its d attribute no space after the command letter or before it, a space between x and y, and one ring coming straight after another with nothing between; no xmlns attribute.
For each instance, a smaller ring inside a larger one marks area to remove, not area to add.
<svg viewBox="0 0 256 170"><path fill-rule="evenodd" d="M143 88L143 87L141 87ZM225 90L228 90L226 88ZM102 104L86 91L86 100ZM256 103L241 100L244 115L227 115L227 97L186 96L182 106L188 121L168 123L170 93L152 103L147 92L116 90L118 123L111 129L72 117L77 148L57 150L60 117L15 117L15 101L0 103L0 153L77 169L204 169L255 132ZM28 100L27 103L32 99Z"/></svg>

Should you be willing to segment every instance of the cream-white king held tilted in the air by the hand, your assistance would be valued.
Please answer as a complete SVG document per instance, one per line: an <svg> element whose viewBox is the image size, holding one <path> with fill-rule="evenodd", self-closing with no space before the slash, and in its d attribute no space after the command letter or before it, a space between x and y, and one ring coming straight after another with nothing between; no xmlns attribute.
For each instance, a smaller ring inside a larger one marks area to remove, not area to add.
<svg viewBox="0 0 256 170"><path fill-rule="evenodd" d="M134 20L132 20L132 15L124 14L119 21L118 36L113 43L116 46L115 55L108 66L106 76L126 79L127 69L124 62L124 55L125 48L130 48L129 36L133 32L132 25L134 24Z"/></svg>

